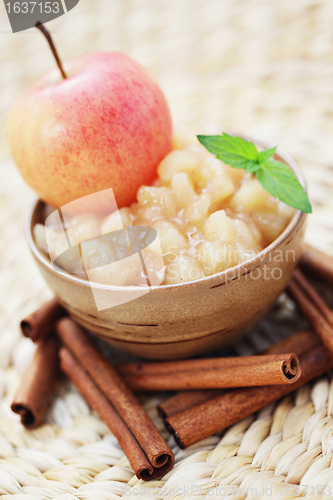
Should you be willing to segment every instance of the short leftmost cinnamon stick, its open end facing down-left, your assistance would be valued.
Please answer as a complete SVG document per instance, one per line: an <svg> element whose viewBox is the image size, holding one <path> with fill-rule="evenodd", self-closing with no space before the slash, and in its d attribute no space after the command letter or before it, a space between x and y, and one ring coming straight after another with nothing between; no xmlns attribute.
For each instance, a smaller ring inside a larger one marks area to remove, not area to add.
<svg viewBox="0 0 333 500"><path fill-rule="evenodd" d="M38 344L11 406L27 429L44 422L58 373L58 342L49 337Z"/></svg>

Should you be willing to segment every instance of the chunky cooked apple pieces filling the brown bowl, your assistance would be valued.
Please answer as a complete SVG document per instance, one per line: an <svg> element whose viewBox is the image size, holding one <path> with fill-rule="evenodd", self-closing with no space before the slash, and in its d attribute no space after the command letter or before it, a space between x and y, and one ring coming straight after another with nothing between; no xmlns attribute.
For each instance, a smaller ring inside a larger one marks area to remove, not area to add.
<svg viewBox="0 0 333 500"><path fill-rule="evenodd" d="M92 240L79 252L73 249L59 260L65 271L86 277L81 265L91 267L90 282L115 286L145 286L141 263L128 266L124 234L115 241L119 215L123 227L148 226L157 231L160 248L149 248L147 266L152 284L173 285L225 271L255 257L286 228L295 209L274 199L258 180L214 157L198 141L176 137L175 148L158 167L152 186L141 186L137 203L105 217L93 213L66 219L71 237ZM62 227L36 224L37 246L46 255L57 251ZM102 238L97 238L103 235ZM122 252L123 250L123 252ZM156 250L156 251L155 251ZM117 265L107 266L115 259Z"/></svg>

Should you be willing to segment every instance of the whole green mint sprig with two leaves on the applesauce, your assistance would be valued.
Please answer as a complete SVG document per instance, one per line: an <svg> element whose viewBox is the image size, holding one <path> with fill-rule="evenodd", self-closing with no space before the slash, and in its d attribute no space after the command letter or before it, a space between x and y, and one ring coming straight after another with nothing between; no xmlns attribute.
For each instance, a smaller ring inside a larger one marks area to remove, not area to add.
<svg viewBox="0 0 333 500"><path fill-rule="evenodd" d="M276 147L259 152L252 142L226 133L197 135L197 138L219 160L253 174L274 198L302 212L312 213L307 194L296 175L285 163L271 159Z"/></svg>

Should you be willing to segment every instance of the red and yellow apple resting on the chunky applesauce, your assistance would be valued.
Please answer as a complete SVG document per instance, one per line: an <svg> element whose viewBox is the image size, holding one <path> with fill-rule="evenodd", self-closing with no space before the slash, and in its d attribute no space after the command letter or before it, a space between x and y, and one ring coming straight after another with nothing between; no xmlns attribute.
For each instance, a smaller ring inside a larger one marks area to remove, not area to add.
<svg viewBox="0 0 333 500"><path fill-rule="evenodd" d="M164 94L148 71L119 52L91 53L47 73L16 101L8 142L25 181L46 203L112 188L118 207L150 184L172 147ZM107 213L108 197L81 211ZM79 210L80 211L80 210Z"/></svg>

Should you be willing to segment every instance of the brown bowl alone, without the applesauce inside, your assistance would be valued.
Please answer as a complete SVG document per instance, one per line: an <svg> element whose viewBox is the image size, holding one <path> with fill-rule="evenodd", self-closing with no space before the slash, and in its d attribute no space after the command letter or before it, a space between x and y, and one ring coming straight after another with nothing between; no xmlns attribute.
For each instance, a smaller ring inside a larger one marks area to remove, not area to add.
<svg viewBox="0 0 333 500"><path fill-rule="evenodd" d="M265 146L266 147L266 146ZM304 185L296 162L279 150ZM194 282L152 286L135 300L137 287L91 284L53 269L36 247L33 227L44 222L38 201L27 221L27 238L47 284L70 316L87 330L143 358L172 359L208 351L239 338L275 302L300 257L305 214L297 212L283 233L250 261ZM122 305L98 311L92 293L121 297Z"/></svg>

